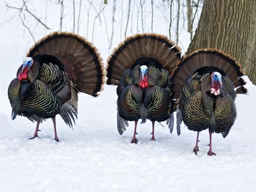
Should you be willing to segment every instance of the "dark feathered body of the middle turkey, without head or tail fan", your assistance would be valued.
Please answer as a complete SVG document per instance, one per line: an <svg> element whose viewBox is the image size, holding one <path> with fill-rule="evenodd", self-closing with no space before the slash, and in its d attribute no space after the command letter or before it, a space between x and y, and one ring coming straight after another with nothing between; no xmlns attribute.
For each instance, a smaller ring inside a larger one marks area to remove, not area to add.
<svg viewBox="0 0 256 192"><path fill-rule="evenodd" d="M150 65L150 59L140 64L126 69L117 87L119 115L127 121L138 121L140 118L143 123L146 119L165 121L169 118L170 110L168 71ZM149 85L146 88L140 87L140 66L143 64L148 65Z"/></svg>

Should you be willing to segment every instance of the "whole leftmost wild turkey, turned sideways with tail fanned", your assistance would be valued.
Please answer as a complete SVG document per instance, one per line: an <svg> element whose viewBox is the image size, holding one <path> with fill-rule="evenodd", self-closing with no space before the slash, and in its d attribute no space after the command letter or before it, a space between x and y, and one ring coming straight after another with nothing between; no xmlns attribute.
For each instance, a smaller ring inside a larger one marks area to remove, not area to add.
<svg viewBox="0 0 256 192"><path fill-rule="evenodd" d="M8 97L12 119L17 115L37 121L52 118L54 140L58 140L55 115L70 127L77 118L77 94L96 97L103 84L99 51L83 37L70 32L52 32L33 45L11 81Z"/></svg>

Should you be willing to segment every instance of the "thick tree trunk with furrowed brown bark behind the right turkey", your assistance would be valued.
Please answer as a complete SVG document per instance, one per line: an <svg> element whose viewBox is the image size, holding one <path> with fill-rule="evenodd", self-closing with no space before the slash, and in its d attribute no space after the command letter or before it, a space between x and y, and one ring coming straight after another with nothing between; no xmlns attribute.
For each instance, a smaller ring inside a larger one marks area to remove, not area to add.
<svg viewBox="0 0 256 192"><path fill-rule="evenodd" d="M256 84L256 1L205 0L187 54L199 48L227 52Z"/></svg>

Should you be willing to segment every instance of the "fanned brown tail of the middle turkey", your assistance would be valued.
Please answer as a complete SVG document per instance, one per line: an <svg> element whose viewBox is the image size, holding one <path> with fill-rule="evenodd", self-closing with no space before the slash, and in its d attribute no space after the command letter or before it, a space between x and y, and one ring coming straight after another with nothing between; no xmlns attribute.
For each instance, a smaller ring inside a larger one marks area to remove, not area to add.
<svg viewBox="0 0 256 192"><path fill-rule="evenodd" d="M140 57L160 61L169 74L180 62L181 48L165 35L135 34L127 37L107 58L107 84L118 85L125 69Z"/></svg>

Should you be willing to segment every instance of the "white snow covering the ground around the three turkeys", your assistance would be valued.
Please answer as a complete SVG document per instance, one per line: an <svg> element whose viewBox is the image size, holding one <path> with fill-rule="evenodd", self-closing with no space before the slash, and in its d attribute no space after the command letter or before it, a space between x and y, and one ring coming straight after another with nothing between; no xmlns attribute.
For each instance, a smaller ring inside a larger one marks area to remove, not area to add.
<svg viewBox="0 0 256 192"><path fill-rule="evenodd" d="M150 141L150 121L138 124L138 143L131 144L134 123L118 134L116 87L109 85L98 98L79 94L74 130L57 117L60 143L51 120L40 125L40 138L28 140L35 123L11 120L7 89L33 42L17 17L9 20L14 11L0 5L0 191L255 191L256 86L247 77L250 92L237 97L238 116L228 137L213 135L214 157L207 155L208 131L200 133L195 155L196 133L184 125L178 137L164 122L164 127L156 123L156 141ZM44 34L39 31L36 38ZM94 38L106 61L106 39Z"/></svg>

